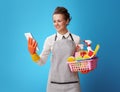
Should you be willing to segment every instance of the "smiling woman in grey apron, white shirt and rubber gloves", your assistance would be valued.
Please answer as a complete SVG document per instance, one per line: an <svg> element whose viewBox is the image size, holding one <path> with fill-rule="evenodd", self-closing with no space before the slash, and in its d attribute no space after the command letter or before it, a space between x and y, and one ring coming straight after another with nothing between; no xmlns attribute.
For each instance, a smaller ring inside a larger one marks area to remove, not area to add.
<svg viewBox="0 0 120 92"><path fill-rule="evenodd" d="M28 50L36 63L44 64L52 53L47 92L80 92L78 73L72 73L67 65L67 58L74 54L80 42L80 37L67 29L70 20L66 8L55 9L53 23L57 33L47 37L40 55L36 53L37 42L32 38L28 40Z"/></svg>

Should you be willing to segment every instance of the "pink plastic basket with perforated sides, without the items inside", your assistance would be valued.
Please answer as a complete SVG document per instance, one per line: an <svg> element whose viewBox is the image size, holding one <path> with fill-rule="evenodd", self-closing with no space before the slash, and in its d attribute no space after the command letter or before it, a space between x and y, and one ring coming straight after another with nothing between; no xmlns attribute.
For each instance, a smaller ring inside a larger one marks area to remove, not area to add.
<svg viewBox="0 0 120 92"><path fill-rule="evenodd" d="M75 62L67 62L71 72L81 72L88 73L94 70L97 67L98 57L94 57L91 59L80 60Z"/></svg>

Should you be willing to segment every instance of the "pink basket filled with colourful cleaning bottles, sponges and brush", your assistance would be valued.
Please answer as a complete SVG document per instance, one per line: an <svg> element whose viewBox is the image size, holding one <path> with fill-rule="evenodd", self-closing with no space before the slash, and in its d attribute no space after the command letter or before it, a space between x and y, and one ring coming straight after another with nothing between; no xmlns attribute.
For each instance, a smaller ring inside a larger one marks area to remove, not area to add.
<svg viewBox="0 0 120 92"><path fill-rule="evenodd" d="M95 50L93 50L91 47L91 40L84 40L83 42L86 44L87 50L82 49L76 51L74 56L70 56L67 59L71 72L81 72L82 74L87 74L94 70L97 66L97 52L100 45L97 44Z"/></svg>

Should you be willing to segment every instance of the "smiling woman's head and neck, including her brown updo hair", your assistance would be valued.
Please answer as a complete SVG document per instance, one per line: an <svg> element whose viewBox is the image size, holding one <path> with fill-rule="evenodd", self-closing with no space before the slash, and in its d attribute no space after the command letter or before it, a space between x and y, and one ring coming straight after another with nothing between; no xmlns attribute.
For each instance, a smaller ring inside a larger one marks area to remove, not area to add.
<svg viewBox="0 0 120 92"><path fill-rule="evenodd" d="M57 7L53 13L53 22L56 30L65 34L68 30L66 26L69 24L71 18L68 10L64 7Z"/></svg>

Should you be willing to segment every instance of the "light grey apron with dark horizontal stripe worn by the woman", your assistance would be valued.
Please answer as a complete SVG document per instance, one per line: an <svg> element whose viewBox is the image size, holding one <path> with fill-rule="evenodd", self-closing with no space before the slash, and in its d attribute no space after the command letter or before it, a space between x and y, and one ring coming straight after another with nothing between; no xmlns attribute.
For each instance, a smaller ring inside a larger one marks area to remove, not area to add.
<svg viewBox="0 0 120 92"><path fill-rule="evenodd" d="M80 92L78 73L71 72L67 64L67 58L74 52L74 41L62 39L54 42L47 92Z"/></svg>

